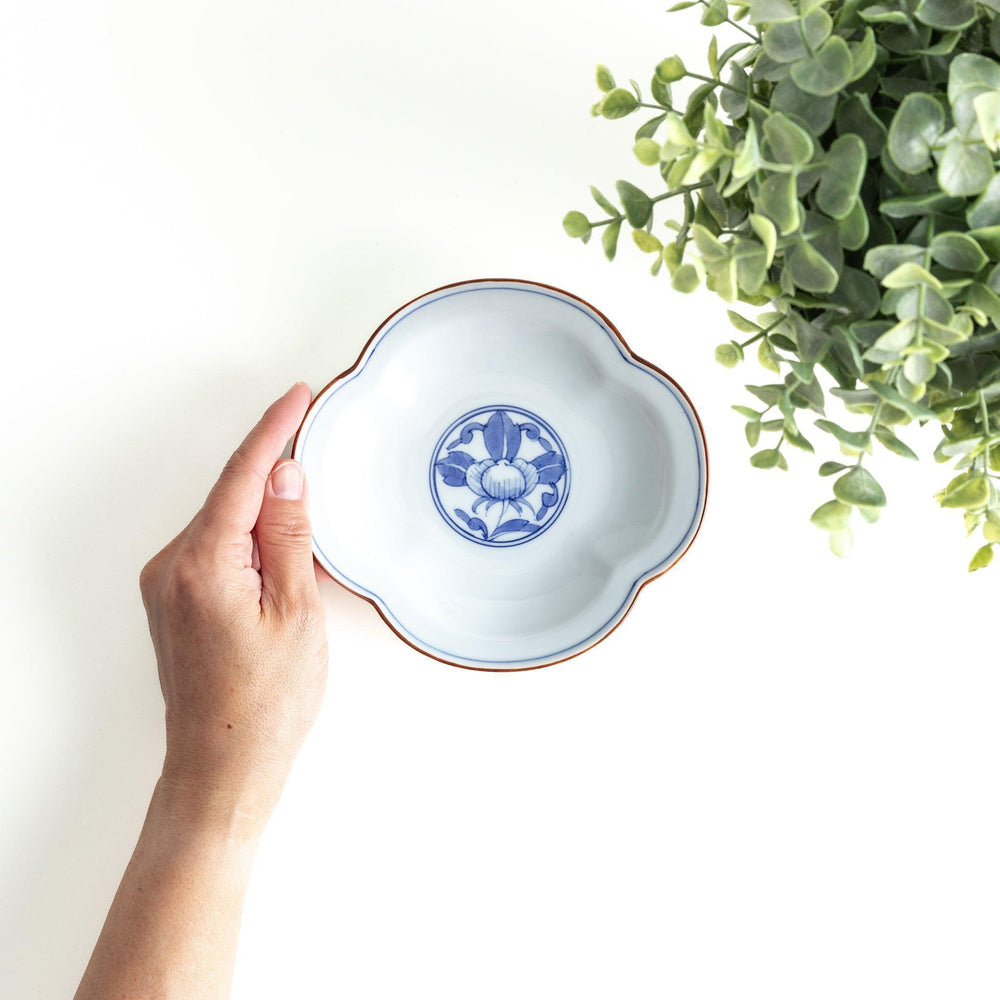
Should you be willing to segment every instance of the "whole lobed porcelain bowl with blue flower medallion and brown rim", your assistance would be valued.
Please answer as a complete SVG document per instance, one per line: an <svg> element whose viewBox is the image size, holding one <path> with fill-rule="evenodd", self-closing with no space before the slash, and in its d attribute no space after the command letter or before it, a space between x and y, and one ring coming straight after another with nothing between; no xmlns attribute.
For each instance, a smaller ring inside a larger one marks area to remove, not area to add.
<svg viewBox="0 0 1000 1000"><path fill-rule="evenodd" d="M313 401L293 455L320 565L428 656L576 656L690 546L700 421L592 306L469 281L390 316Z"/></svg>

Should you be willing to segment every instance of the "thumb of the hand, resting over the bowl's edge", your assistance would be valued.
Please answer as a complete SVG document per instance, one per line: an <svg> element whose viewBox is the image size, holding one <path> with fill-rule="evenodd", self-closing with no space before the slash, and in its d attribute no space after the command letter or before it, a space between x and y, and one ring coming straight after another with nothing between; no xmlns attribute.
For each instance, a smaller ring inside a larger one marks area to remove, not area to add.
<svg viewBox="0 0 1000 1000"><path fill-rule="evenodd" d="M261 604L294 613L318 597L313 572L305 473L291 459L278 462L264 485L256 525Z"/></svg>

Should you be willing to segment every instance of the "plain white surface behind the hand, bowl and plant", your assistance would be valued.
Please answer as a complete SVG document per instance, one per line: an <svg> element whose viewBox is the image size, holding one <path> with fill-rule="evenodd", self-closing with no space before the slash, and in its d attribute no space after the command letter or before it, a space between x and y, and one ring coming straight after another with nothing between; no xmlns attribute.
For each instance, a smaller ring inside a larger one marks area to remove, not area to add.
<svg viewBox="0 0 1000 1000"><path fill-rule="evenodd" d="M0 995L72 993L158 773L142 563L287 385L500 276L588 298L689 392L701 535L522 674L325 584L329 694L235 996L997 995L1000 569L966 573L948 470L880 454L890 506L837 561L808 524L837 456L750 468L729 405L767 379L713 362L724 307L561 231L591 183L656 190L638 122L589 107L598 61L696 62L663 6L3 6Z"/></svg>

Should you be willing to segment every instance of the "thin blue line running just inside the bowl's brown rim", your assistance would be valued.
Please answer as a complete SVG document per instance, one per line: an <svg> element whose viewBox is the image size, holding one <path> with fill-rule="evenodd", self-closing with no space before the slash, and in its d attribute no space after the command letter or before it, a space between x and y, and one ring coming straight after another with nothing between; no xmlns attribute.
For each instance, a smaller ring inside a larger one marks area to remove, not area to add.
<svg viewBox="0 0 1000 1000"><path fill-rule="evenodd" d="M573 302L570 299L565 299L560 295L553 295L551 292L545 291L543 289L529 288L523 285L518 285L516 283L502 284L502 285L490 285L488 283L483 283L483 284L477 284L473 288L460 288L454 292L449 292L447 295L435 296L434 298L429 299L427 302L423 302L420 305L416 306L416 308L408 309L405 313L403 313L403 315L398 316L396 320L393 322L392 326L386 327L381 332L378 339L372 344L371 351L369 352L368 357L365 358L361 366L357 368L354 372L352 372L350 376L343 379L343 381L338 382L330 390L330 392L327 394L327 397L320 404L319 409L316 410L316 412L313 414L312 418L309 421L309 426L306 428L306 433L302 439L302 450L300 454L305 455L306 447L309 444L309 435L312 432L313 426L316 423L316 418L322 412L323 407L326 406L326 404L333 398L333 396L340 389L342 389L345 385L348 385L350 382L353 382L354 379L357 378L358 375L360 375L365 370L365 367L371 360L372 356L379 349L379 347L381 347L382 342L389 335L389 333L391 333L392 330L396 328L396 326L399 323L401 323L407 317L412 316L414 313L419 312L426 306L433 305L435 302L443 302L445 299L450 299L452 298L452 296L455 295L467 295L470 292L480 292L480 291L527 292L531 295L541 295L543 298L553 299L554 301L560 302L563 305L572 306L574 309L577 310L577 312L580 312L584 316L586 316L591 322L595 323L602 332L604 332L605 334L607 334L608 337L611 338L611 341L614 343L615 347L618 348L618 353L626 362L628 362L628 364L630 364L633 368L637 368L639 371L645 372L647 375L650 376L650 378L654 379L658 385L661 385L664 388L670 390L671 395L680 404L681 410L683 411L684 416L687 419L688 426L691 429L691 435L694 438L694 443L695 443L695 457L698 463L698 484L699 484L698 498L695 503L694 514L691 517L691 522L688 524L687 529L681 536L681 540L671 550L669 555L667 555L664 559L661 559L660 562L656 563L652 568L646 570L644 573L641 573L639 576L636 577L632 586L629 588L625 600L622 601L622 603L618 606L618 609L615 611L615 613L606 622L604 622L603 625L601 625L595 631L591 632L590 635L588 635L584 639L580 639L577 642L573 643L572 646L566 646L564 649L560 649L557 652L545 653L540 656L533 656L530 659L521 659L521 660L478 660L470 656L463 656L461 653L452 653L445 649L439 649L437 646L432 646L429 642L426 642L425 640L421 639L418 635L411 632L405 625L403 625L403 623L396 617L396 615L393 614L389 605L386 604L386 602L382 600L382 598L379 597L379 595L376 594L375 591L369 590L367 587L358 583L356 580L352 580L346 573L343 573L339 569L337 569L337 567L333 563L333 560L330 559L330 557L323 550L323 547L317 541L315 535L313 535L313 547L316 549L317 552L319 552L320 556L322 556L323 561L326 563L326 565L329 566L334 571L334 573L337 574L337 576L339 576L342 580L346 580L347 583L349 583L353 589L361 591L362 593L367 594L369 597L377 601L379 606L384 608L389 617L392 618L392 620L395 622L399 630L403 632L406 636L408 636L410 639L412 639L413 643L417 647L421 649L430 650L432 653L440 653L441 656L444 658L461 660L464 663L470 665L482 664L483 666L493 666L493 667L517 666L520 664L535 665L536 661L542 661L542 663L537 664L541 666L543 663L547 661L563 659L564 656L568 656L573 650L579 650L580 652L583 652L583 649L580 649L581 646L586 648L589 644L591 644L591 640L601 635L601 633L604 632L605 629L607 629L608 626L612 624L612 622L615 622L620 619L622 612L625 611L631 605L635 597L636 591L640 586L641 582L648 577L655 576L660 567L666 566L670 562L670 560L673 559L673 557L677 554L678 550L681 548L684 542L689 538L691 534L691 529L695 526L695 522L698 520L698 513L701 510L702 499L704 497L704 491L700 488L702 482L702 472L703 472L702 461L701 461L701 451L703 442L701 435L695 428L694 421L691 419L691 413L689 412L688 409L687 400L683 397L683 395L678 394L677 387L672 382L668 381L667 379L664 379L658 372L655 372L651 368L647 368L645 365L640 364L638 361L636 361L635 358L632 357L632 355L629 354L628 351L624 349L621 341L619 341L619 339L615 336L615 334L608 329L606 324L598 316L592 313L589 309L584 309L581 305L578 305L576 302Z"/></svg>

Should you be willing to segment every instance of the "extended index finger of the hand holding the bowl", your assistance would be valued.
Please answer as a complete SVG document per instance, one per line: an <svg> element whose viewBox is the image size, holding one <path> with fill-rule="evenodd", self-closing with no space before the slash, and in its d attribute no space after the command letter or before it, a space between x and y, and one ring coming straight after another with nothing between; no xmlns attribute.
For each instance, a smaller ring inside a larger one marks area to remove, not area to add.
<svg viewBox="0 0 1000 1000"><path fill-rule="evenodd" d="M249 535L257 523L264 485L274 463L298 429L312 402L305 382L275 400L233 453L202 508L204 516L231 536Z"/></svg>

